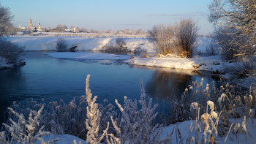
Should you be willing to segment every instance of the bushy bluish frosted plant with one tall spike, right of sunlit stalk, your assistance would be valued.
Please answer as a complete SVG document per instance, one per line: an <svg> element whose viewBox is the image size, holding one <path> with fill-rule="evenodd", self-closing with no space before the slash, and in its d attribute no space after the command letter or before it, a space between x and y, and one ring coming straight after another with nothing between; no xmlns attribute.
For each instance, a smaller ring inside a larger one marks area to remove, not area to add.
<svg viewBox="0 0 256 144"><path fill-rule="evenodd" d="M170 137L165 140L159 140L162 134L162 125L154 124L154 119L158 113L154 111L157 105L151 107L152 99L150 98L148 104L146 102L146 94L143 88L142 80L140 80L141 96L137 102L135 99L127 99L124 96L124 107L116 100L116 105L121 110L121 121L119 128L113 123L121 143L167 143L170 142ZM138 103L141 108L138 109ZM158 128L158 129L157 129Z"/></svg>

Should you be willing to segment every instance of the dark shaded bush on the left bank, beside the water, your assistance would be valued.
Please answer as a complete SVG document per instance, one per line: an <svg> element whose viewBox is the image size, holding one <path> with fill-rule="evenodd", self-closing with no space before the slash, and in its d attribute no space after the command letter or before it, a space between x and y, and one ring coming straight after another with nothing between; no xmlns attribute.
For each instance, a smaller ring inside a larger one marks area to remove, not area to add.
<svg viewBox="0 0 256 144"><path fill-rule="evenodd" d="M0 57L5 58L7 64L20 65L22 63L20 56L22 56L23 53L23 47L0 37Z"/></svg>

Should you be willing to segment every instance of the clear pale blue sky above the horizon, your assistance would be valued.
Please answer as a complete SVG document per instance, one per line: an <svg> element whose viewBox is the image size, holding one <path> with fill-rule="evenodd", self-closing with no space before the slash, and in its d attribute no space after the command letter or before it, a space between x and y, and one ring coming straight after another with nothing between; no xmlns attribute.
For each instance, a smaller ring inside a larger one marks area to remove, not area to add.
<svg viewBox="0 0 256 144"><path fill-rule="evenodd" d="M176 23L192 18L200 28L199 34L210 34L208 4L211 0L1 0L14 15L15 26L56 28L58 24L85 29L143 29L158 24Z"/></svg>

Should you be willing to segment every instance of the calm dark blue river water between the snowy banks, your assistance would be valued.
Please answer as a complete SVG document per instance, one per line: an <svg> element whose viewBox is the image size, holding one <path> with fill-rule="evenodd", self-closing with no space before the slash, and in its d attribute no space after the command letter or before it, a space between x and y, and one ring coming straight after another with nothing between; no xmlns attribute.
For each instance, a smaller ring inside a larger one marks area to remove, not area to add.
<svg viewBox="0 0 256 144"><path fill-rule="evenodd" d="M124 102L140 99L140 78L147 96L159 103L159 110L170 110L170 100L179 99L192 81L211 83L209 72L132 67L121 61L70 60L52 58L48 52L26 52L26 66L0 69L0 122L4 112L13 101L45 99L45 102L64 99L68 103L86 93L86 75L91 75L91 93L98 96L97 102L114 99Z"/></svg>

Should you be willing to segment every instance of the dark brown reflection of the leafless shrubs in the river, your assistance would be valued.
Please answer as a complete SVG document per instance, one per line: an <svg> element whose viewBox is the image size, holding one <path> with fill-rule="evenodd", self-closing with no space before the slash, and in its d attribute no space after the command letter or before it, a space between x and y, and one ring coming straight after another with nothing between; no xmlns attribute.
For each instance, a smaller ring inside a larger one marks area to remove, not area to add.
<svg viewBox="0 0 256 144"><path fill-rule="evenodd" d="M146 93L157 99L180 99L191 78L191 75L181 72L157 70L146 84Z"/></svg>

